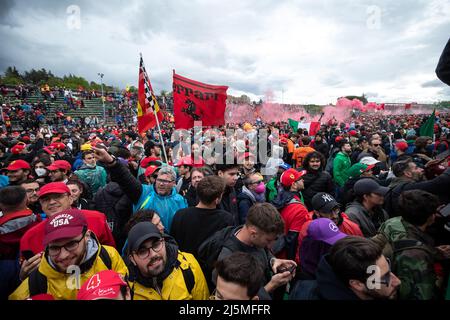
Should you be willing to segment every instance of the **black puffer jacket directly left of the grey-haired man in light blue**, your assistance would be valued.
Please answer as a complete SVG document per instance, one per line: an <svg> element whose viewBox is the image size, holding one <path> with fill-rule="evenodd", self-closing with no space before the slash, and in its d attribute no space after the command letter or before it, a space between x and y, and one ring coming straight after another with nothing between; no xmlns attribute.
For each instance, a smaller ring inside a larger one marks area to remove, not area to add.
<svg viewBox="0 0 450 320"><path fill-rule="evenodd" d="M133 204L116 182L108 183L98 189L94 196L95 210L103 212L111 227L118 250L123 247L127 234L124 233L125 224L133 212Z"/></svg>

